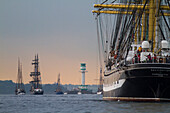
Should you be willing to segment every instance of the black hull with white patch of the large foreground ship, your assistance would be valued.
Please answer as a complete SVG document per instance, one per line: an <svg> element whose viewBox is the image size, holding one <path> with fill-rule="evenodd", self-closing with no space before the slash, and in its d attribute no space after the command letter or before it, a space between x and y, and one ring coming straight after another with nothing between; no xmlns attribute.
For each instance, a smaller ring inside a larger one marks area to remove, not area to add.
<svg viewBox="0 0 170 113"><path fill-rule="evenodd" d="M170 64L131 64L106 73L103 99L170 101Z"/></svg>

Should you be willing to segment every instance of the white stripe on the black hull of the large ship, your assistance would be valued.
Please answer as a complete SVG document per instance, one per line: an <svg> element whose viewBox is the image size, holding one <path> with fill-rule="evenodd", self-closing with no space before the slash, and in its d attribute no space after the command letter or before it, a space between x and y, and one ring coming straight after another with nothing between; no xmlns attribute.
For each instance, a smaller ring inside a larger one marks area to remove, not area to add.
<svg viewBox="0 0 170 113"><path fill-rule="evenodd" d="M121 79L119 81L116 81L116 82L113 82L112 85L105 85L103 86L103 91L106 92L106 91L112 91L112 90L115 90L117 88L120 88L122 87L122 85L124 84L126 80L125 79Z"/></svg>

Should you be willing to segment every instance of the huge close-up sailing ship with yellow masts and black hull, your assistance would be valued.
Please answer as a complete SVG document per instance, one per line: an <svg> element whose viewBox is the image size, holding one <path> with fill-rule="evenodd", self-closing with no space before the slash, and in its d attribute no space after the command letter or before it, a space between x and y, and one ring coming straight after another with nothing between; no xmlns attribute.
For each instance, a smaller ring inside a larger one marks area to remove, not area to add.
<svg viewBox="0 0 170 113"><path fill-rule="evenodd" d="M94 4L103 99L170 101L170 1Z"/></svg>

